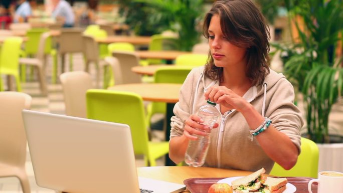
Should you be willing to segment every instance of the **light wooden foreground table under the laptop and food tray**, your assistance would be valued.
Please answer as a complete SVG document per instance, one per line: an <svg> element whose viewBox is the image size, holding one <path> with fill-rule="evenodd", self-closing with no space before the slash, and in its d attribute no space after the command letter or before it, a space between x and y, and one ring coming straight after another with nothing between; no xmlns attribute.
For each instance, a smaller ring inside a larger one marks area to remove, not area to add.
<svg viewBox="0 0 343 193"><path fill-rule="evenodd" d="M216 183L221 178L246 176L251 174L251 171L220 169L214 167L190 167L190 166L157 166L157 167L137 167L138 176L159 179L174 183L184 184L185 179L189 178L205 178L202 179L208 183L201 189L202 192L207 192L212 183ZM206 179L207 178L207 179ZM212 178L212 179L208 179ZM287 177L288 182L296 186L296 193L308 193L307 184L312 178L308 177ZM317 192L317 185L312 184L313 192ZM190 192L186 189L183 192Z"/></svg>

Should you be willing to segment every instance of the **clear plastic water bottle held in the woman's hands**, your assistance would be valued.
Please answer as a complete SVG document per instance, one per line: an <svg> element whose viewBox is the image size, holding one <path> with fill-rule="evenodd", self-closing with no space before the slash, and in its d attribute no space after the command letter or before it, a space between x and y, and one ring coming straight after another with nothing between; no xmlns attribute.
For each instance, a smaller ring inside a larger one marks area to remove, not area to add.
<svg viewBox="0 0 343 193"><path fill-rule="evenodd" d="M202 124L210 127L210 131L208 131L207 135L205 136L193 134L194 136L197 136L198 139L190 140L188 143L188 148L185 154L185 162L194 167L200 167L205 162L207 151L209 150L210 146L211 129L219 118L219 112L216 109L216 103L208 100L206 105L199 108L197 115L204 120Z"/></svg>

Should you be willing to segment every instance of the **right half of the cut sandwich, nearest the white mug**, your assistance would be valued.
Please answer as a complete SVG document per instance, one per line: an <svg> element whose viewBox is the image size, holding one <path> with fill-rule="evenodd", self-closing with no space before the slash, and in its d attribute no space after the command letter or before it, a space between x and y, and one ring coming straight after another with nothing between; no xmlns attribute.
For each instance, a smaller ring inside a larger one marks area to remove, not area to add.
<svg viewBox="0 0 343 193"><path fill-rule="evenodd" d="M287 178L267 177L259 191L262 193L281 193L286 189Z"/></svg>

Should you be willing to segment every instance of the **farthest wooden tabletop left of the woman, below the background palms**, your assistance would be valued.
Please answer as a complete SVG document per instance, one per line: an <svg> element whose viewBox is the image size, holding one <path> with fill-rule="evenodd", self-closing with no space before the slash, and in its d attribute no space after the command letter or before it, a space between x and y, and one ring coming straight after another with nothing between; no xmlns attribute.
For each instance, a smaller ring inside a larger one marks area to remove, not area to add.
<svg viewBox="0 0 343 193"><path fill-rule="evenodd" d="M110 44L114 42L127 42L133 45L149 45L149 36L108 36L107 38L96 39L98 43Z"/></svg>

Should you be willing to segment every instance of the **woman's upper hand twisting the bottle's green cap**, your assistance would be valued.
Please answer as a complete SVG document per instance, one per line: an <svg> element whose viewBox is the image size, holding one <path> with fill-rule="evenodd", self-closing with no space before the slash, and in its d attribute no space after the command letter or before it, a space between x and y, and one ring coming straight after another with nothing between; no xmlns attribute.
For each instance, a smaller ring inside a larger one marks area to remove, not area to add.
<svg viewBox="0 0 343 193"><path fill-rule="evenodd" d="M224 105L230 109L242 111L247 105L247 101L225 86L213 86L205 93L205 99Z"/></svg>

